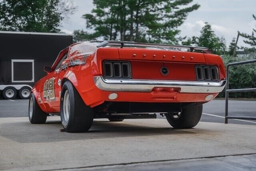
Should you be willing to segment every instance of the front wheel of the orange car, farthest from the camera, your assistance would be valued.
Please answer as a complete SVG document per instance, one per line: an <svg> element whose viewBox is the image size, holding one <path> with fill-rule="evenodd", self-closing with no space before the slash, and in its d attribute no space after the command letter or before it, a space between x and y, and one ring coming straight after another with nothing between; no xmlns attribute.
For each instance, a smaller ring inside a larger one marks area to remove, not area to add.
<svg viewBox="0 0 256 171"><path fill-rule="evenodd" d="M47 118L47 113L42 111L38 105L34 93L30 94L28 103L28 118L30 123L45 123Z"/></svg>

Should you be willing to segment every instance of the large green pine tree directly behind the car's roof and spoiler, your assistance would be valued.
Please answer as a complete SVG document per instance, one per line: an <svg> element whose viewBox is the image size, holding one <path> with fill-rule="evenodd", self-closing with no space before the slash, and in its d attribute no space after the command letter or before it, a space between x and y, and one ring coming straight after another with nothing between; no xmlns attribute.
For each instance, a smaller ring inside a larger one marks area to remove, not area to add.
<svg viewBox="0 0 256 171"><path fill-rule="evenodd" d="M178 43L178 27L200 5L193 0L94 0L92 14L84 14L94 39ZM80 34L82 30L76 30ZM75 35L76 36L76 35ZM84 35L88 38L88 34ZM76 40L80 41L80 40Z"/></svg>

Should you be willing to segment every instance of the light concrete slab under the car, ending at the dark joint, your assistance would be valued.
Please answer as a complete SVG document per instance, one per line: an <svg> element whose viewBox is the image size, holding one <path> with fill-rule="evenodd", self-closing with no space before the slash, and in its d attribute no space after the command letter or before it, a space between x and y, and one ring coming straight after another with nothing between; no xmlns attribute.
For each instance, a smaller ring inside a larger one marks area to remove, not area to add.
<svg viewBox="0 0 256 171"><path fill-rule="evenodd" d="M30 124L0 118L0 169L47 170L256 153L256 126L200 122L173 129L166 119L96 119L87 133L60 132L60 117Z"/></svg>

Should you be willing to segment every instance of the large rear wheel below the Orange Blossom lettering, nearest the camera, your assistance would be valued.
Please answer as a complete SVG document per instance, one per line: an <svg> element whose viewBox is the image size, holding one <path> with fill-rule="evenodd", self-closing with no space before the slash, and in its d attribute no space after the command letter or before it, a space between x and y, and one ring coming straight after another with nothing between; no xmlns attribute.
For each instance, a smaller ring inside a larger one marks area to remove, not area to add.
<svg viewBox="0 0 256 171"><path fill-rule="evenodd" d="M71 82L62 86L60 118L65 131L86 132L92 126L94 109L87 106Z"/></svg>

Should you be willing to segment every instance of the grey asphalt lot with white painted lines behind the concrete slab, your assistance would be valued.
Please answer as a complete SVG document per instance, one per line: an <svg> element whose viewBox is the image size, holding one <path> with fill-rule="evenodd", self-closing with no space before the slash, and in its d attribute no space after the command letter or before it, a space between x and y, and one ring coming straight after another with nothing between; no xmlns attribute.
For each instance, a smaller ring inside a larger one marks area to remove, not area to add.
<svg viewBox="0 0 256 171"><path fill-rule="evenodd" d="M229 115L256 116L256 101L230 100ZM22 116L28 116L28 99L0 100L0 117ZM204 104L200 121L224 123L224 116L225 101L214 99ZM256 120L229 119L229 123L256 125Z"/></svg>

